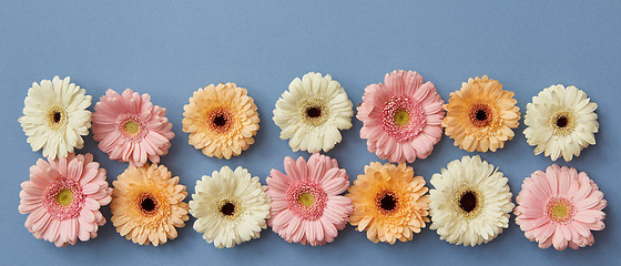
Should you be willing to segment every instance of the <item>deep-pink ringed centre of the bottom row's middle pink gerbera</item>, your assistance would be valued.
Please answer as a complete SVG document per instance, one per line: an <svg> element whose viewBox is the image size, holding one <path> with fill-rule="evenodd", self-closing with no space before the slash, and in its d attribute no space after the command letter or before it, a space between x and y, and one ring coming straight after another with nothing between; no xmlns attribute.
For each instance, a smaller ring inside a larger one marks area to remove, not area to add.
<svg viewBox="0 0 621 266"><path fill-rule="evenodd" d="M314 182L295 184L287 191L288 208L304 219L316 221L326 208L328 195Z"/></svg>

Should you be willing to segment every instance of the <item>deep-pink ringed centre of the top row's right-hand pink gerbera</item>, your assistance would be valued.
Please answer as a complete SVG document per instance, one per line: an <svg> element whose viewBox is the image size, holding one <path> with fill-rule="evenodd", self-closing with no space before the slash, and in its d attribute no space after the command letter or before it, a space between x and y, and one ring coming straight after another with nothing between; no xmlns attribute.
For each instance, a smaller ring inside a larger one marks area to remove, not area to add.
<svg viewBox="0 0 621 266"><path fill-rule="evenodd" d="M384 105L380 123L388 135L398 142L407 142L425 127L425 112L416 100L406 95L395 96Z"/></svg>

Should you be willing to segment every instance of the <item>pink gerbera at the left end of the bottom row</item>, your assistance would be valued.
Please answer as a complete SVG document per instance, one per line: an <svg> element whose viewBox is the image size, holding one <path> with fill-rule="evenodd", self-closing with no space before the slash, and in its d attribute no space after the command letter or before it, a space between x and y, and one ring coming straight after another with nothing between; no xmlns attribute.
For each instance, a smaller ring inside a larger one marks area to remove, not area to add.
<svg viewBox="0 0 621 266"><path fill-rule="evenodd" d="M29 214L26 228L58 247L95 238L105 224L99 209L112 200L105 170L90 153L40 158L21 188L19 212Z"/></svg>

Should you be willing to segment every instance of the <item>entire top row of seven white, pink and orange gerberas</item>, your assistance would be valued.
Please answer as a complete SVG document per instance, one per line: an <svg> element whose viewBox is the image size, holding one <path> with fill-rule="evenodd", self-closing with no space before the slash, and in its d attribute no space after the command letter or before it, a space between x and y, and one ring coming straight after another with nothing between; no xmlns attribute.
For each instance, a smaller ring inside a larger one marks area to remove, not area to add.
<svg viewBox="0 0 621 266"><path fill-rule="evenodd" d="M356 117L369 152L390 162L426 158L439 142L442 127L455 145L468 152L496 152L513 139L520 120L513 92L497 80L469 79L450 93L448 104L434 83L413 71L394 71L384 83L365 89ZM70 79L33 83L19 119L33 151L43 156L67 156L83 146L91 126L91 96ZM571 161L595 144L597 104L576 86L552 85L527 104L523 131L535 154ZM166 110L153 105L149 94L128 89L109 90L92 114L93 139L112 160L141 166L157 163L174 137ZM308 73L289 84L273 111L281 139L293 151L327 152L352 127L353 103L330 75ZM445 115L446 114L446 115ZM258 112L247 91L234 83L198 89L184 106L183 131L189 143L207 156L237 156L254 143Z"/></svg>

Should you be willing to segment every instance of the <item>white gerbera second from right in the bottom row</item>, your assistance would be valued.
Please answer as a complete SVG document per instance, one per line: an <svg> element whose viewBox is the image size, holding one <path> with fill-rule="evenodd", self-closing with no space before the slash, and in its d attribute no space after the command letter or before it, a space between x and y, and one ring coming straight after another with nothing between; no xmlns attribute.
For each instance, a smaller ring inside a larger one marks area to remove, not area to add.
<svg viewBox="0 0 621 266"><path fill-rule="evenodd" d="M455 160L431 177L431 229L456 245L488 243L509 226L507 177L477 155Z"/></svg>

